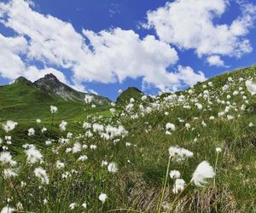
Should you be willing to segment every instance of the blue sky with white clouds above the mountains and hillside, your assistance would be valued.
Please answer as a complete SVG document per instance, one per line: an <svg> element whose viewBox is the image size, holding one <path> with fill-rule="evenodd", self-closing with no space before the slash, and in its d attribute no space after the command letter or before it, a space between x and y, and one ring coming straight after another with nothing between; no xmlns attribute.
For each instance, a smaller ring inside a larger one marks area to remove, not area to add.
<svg viewBox="0 0 256 213"><path fill-rule="evenodd" d="M116 99L256 64L253 0L0 0L0 84L53 73Z"/></svg>

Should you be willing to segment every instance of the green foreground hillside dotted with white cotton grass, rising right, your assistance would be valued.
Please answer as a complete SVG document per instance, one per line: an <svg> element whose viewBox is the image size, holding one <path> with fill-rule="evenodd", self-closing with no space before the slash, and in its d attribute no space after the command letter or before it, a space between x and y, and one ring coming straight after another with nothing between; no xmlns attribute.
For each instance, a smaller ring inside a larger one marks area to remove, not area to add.
<svg viewBox="0 0 256 213"><path fill-rule="evenodd" d="M17 161L11 165L0 155L0 207L11 198L9 206L30 212L255 212L256 96L247 89L247 79L256 82L256 66L176 94L137 98L113 113L55 102L59 112L53 125L49 96L38 102L43 94L29 85L5 87L3 109L14 100L33 112L45 105L28 116L45 120L0 131L1 138L13 137L11 144L2 141L2 148L8 147ZM125 93L127 104L132 95ZM68 112L71 108L77 111ZM19 113L6 109L3 116L16 121ZM61 131L57 119L65 116L67 129ZM20 118L26 119L26 112ZM48 129L44 133L43 126ZM32 127L35 135L29 136ZM73 136L67 138L68 132ZM25 143L36 147L22 147Z"/></svg>

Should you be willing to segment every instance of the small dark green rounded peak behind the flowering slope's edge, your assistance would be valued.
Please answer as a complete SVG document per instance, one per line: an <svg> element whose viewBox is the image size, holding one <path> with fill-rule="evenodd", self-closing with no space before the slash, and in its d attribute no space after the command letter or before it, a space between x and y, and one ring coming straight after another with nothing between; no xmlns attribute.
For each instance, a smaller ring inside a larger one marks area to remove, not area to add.
<svg viewBox="0 0 256 213"><path fill-rule="evenodd" d="M139 101L143 95L143 92L136 87L129 87L118 96L116 102L117 104L129 103L131 98L133 98L135 101Z"/></svg>

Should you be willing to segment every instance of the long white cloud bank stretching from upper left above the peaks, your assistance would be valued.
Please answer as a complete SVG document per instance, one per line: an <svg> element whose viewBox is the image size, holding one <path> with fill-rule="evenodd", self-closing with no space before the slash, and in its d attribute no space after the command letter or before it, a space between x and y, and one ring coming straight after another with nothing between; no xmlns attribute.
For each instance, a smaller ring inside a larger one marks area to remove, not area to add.
<svg viewBox="0 0 256 213"><path fill-rule="evenodd" d="M177 52L166 41L151 35L141 38L136 32L121 28L79 33L72 24L40 14L24 0L0 3L0 11L3 25L20 35L9 37L17 40L20 48L8 48L15 67L0 67L6 78L23 74L34 79L53 72L62 82L68 83L63 73L49 68L51 66L70 69L73 86L79 89L84 89L83 82L114 83L125 78L143 78L143 82L152 83L159 89L173 89L181 83L191 83L185 80L186 74L202 78L201 72L192 69L183 74L168 71L168 67L177 63ZM9 58L0 60L9 61ZM46 68L39 70L33 61L42 62Z"/></svg>

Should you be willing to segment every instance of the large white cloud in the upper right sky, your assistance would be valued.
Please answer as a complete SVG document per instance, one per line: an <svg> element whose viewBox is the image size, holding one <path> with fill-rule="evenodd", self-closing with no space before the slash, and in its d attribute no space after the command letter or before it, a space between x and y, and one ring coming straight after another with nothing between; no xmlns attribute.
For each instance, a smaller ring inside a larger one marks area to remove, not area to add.
<svg viewBox="0 0 256 213"><path fill-rule="evenodd" d="M241 57L252 51L245 36L253 26L256 8L241 3L241 15L230 25L215 24L229 4L227 0L176 0L148 11L148 27L154 27L160 40L175 44L179 49L195 49L200 57Z"/></svg>

